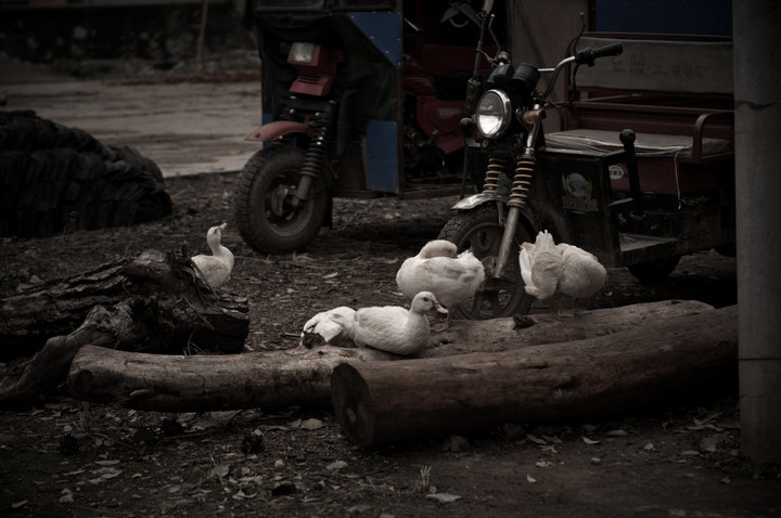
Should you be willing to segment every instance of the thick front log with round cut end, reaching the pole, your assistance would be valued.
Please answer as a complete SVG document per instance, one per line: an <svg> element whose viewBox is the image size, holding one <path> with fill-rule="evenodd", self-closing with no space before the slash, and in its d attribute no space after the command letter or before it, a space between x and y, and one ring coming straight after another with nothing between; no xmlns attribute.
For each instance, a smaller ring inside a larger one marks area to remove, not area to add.
<svg viewBox="0 0 781 518"><path fill-rule="evenodd" d="M345 363L332 404L361 446L470 435L507 423L596 419L729 386L738 307L585 340L408 362Z"/></svg>

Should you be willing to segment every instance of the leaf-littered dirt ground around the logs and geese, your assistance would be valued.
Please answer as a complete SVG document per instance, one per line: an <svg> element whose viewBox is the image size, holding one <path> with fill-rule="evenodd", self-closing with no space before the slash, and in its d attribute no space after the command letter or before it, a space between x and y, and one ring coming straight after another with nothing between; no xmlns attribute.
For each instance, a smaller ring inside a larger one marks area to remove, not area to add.
<svg viewBox="0 0 781 518"><path fill-rule="evenodd" d="M156 150L162 131L154 133ZM144 153L144 139L133 139ZM206 251L206 230L227 221L223 243L236 258L228 287L249 298L247 350L299 347L318 311L404 303L398 267L436 237L456 200L337 199L334 228L306 254L265 257L231 225L235 179L166 178L175 215L161 221L3 238L0 296L146 248ZM734 259L686 257L653 286L610 270L590 307L666 299L737 303ZM0 515L781 516L779 470L740 458L735 388L726 381L710 398L681 396L610 422L516 423L466 442L366 450L341 433L330 407L164 414L77 401L63 385L29 410L0 412Z"/></svg>

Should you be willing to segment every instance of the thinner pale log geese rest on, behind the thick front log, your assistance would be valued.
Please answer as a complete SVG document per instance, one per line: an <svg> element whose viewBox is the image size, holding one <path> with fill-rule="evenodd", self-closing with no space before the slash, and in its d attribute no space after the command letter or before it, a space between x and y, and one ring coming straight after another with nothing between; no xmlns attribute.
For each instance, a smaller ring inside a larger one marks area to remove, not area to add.
<svg viewBox="0 0 781 518"><path fill-rule="evenodd" d="M492 321L453 321L425 357L501 351L598 336L677 315L713 312L697 301L662 301L584 312ZM477 331L475 331L477 329ZM463 339L462 339L463 337ZM84 347L68 387L82 400L150 411L190 412L328 403L331 373L342 363L408 360L368 348L322 346L239 355L159 355Z"/></svg>

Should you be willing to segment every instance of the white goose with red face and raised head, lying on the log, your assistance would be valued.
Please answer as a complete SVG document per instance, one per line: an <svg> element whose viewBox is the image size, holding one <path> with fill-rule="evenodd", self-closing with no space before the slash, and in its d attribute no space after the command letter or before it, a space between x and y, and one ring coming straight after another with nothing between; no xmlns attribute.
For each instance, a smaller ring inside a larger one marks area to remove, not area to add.
<svg viewBox="0 0 781 518"><path fill-rule="evenodd" d="M430 346L431 328L425 313L432 310L447 313L433 293L421 292L409 310L401 306L377 306L361 308L353 318L340 313L330 318L358 346L409 355Z"/></svg>

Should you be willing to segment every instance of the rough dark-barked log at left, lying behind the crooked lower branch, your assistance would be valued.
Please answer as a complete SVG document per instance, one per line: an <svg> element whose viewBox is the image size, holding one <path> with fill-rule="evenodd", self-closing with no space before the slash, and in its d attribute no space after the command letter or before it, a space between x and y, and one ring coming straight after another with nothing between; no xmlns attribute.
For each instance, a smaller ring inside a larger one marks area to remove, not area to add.
<svg viewBox="0 0 781 518"><path fill-rule="evenodd" d="M185 248L146 250L0 299L0 359L33 355L50 338L79 327L95 306L111 308L131 298L146 301L148 316L162 320L153 314L158 312L171 324L165 348L154 352L179 352L192 344L241 351L249 331L246 297L208 289L194 279L189 261Z"/></svg>

